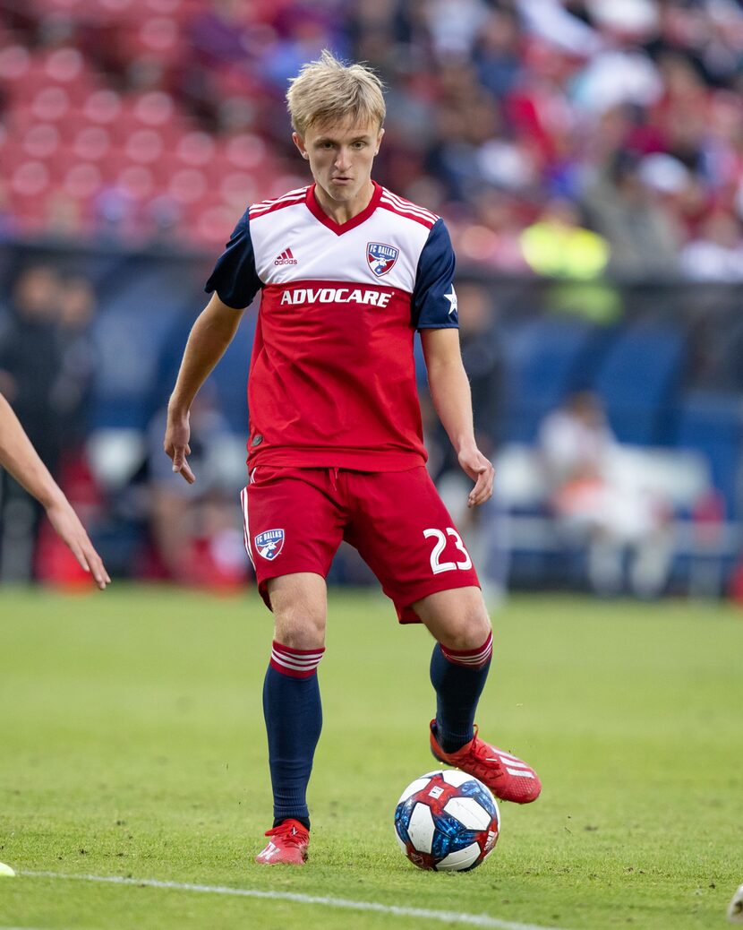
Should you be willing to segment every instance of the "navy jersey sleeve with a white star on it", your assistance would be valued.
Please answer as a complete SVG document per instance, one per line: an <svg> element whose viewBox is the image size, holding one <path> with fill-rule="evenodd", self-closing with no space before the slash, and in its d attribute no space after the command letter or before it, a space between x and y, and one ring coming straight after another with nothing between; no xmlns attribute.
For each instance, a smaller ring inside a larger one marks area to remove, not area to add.
<svg viewBox="0 0 743 930"><path fill-rule="evenodd" d="M437 219L432 226L418 259L411 312L416 329L459 327L454 293L454 249L443 219Z"/></svg>

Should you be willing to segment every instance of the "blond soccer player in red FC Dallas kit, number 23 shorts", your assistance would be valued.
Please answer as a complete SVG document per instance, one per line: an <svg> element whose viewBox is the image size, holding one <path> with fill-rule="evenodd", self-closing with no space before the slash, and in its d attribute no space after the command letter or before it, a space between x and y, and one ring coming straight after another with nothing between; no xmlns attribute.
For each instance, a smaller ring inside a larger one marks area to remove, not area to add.
<svg viewBox="0 0 743 930"><path fill-rule="evenodd" d="M480 740L477 700L491 632L475 568L425 469L413 339L463 471L468 504L492 494L476 446L457 331L454 256L442 219L372 180L385 101L372 71L325 51L287 94L293 141L314 183L250 206L206 284L170 398L164 448L189 468L189 406L262 291L248 379L245 543L275 630L264 683L274 796L256 860L302 864L306 787L321 726L317 669L326 585L343 539L392 599L401 623L437 640L430 724L437 760L525 804L541 785L528 764Z"/></svg>

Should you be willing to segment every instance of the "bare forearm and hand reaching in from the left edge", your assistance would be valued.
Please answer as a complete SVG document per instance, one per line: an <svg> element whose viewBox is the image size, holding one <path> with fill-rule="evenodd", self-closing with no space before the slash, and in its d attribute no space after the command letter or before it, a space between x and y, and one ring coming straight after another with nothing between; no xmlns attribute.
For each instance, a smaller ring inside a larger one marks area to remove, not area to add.
<svg viewBox="0 0 743 930"><path fill-rule="evenodd" d="M0 466L7 469L46 510L46 516L72 554L103 591L111 578L98 552L57 482L23 432L18 417L0 394Z"/></svg>

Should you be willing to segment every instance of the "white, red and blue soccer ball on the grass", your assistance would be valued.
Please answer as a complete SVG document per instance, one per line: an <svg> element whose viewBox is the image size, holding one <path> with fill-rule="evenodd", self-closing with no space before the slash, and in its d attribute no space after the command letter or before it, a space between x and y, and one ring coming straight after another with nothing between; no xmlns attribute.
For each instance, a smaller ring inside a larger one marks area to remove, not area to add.
<svg viewBox="0 0 743 930"><path fill-rule="evenodd" d="M419 869L475 869L493 851L500 827L489 789L454 768L411 781L395 811L400 849Z"/></svg>

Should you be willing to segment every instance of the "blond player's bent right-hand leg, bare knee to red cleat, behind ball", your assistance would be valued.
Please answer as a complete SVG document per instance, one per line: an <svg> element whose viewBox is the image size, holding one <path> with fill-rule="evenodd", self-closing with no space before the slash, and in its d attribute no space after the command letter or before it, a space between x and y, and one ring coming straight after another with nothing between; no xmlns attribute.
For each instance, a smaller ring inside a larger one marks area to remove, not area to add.
<svg viewBox="0 0 743 930"><path fill-rule="evenodd" d="M536 801L541 791L536 772L510 752L477 737L475 712L492 653L481 592L477 588L437 591L413 608L438 641L431 658L431 684L437 693L430 737L434 756L479 778L503 801Z"/></svg>

